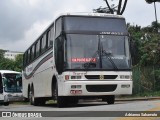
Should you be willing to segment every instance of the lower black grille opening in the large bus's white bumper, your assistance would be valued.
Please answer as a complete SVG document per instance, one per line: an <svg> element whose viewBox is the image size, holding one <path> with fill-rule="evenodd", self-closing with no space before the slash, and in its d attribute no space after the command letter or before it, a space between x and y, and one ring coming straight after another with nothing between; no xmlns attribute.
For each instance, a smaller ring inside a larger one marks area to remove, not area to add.
<svg viewBox="0 0 160 120"><path fill-rule="evenodd" d="M113 92L117 88L116 84L112 85L86 85L88 92Z"/></svg>

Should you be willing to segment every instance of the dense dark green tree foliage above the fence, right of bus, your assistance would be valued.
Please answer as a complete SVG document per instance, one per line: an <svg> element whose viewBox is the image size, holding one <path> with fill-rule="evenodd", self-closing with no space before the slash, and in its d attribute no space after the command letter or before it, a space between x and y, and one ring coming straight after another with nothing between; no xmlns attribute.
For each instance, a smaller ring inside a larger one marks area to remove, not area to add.
<svg viewBox="0 0 160 120"><path fill-rule="evenodd" d="M155 32L157 26L152 22L150 26L131 26L127 25L134 43L135 55L134 65L159 65L160 66L160 34ZM158 23L160 28L160 23Z"/></svg>

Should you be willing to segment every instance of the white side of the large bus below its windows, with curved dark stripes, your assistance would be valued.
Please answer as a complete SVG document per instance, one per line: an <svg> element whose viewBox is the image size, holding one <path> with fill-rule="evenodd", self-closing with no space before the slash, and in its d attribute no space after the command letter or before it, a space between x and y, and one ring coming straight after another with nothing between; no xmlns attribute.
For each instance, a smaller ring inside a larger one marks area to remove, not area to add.
<svg viewBox="0 0 160 120"><path fill-rule="evenodd" d="M35 97L51 97L53 71L52 50L44 53L23 72L23 95L28 97L28 85L34 87Z"/></svg>

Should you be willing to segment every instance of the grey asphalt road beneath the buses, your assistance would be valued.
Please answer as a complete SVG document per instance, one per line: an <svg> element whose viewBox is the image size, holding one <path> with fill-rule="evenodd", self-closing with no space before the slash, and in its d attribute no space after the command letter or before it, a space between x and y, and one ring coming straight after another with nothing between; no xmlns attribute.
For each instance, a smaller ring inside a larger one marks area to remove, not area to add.
<svg viewBox="0 0 160 120"><path fill-rule="evenodd" d="M57 108L56 104L45 106L10 104L9 106L0 106L0 112L0 115L2 112L11 112L12 115L12 118L0 117L0 120L160 120L157 117L160 115L160 100L119 101L114 105L108 105L105 102L85 101L68 108ZM33 118L34 115L38 118ZM141 116L141 118L137 116Z"/></svg>

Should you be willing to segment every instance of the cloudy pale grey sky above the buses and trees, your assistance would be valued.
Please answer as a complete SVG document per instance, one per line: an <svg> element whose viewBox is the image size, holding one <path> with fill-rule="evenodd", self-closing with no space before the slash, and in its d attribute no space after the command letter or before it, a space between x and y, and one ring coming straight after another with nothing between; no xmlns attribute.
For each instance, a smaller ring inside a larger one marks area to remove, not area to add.
<svg viewBox="0 0 160 120"><path fill-rule="evenodd" d="M116 4L118 0L109 0ZM92 12L103 0L0 0L0 49L24 52L61 13ZM160 22L160 3L156 3ZM155 21L154 4L128 0L123 14L132 25Z"/></svg>

